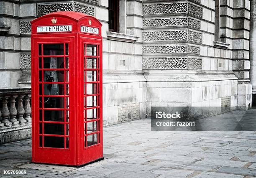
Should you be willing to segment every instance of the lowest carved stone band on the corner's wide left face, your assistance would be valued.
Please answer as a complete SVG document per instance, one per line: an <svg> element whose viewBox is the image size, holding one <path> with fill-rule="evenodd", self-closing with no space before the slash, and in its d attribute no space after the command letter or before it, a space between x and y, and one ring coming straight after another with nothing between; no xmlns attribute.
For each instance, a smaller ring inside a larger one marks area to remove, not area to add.
<svg viewBox="0 0 256 178"><path fill-rule="evenodd" d="M187 69L187 58L143 58L143 69Z"/></svg>

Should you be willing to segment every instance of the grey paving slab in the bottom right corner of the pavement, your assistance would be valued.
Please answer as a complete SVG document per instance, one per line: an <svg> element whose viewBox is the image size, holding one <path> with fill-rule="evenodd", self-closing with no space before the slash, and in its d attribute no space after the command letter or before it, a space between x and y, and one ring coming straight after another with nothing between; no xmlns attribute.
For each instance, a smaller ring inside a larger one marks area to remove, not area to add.
<svg viewBox="0 0 256 178"><path fill-rule="evenodd" d="M228 173L228 174L238 174L238 175L248 175L248 176L256 176L256 169L250 168L234 168L223 166L217 170L219 173Z"/></svg>

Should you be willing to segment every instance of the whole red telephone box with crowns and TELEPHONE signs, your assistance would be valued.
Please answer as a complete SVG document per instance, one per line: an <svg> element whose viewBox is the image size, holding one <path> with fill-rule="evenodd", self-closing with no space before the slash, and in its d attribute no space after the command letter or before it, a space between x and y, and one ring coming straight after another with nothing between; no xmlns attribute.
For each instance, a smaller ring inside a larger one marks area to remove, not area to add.
<svg viewBox="0 0 256 178"><path fill-rule="evenodd" d="M103 159L102 24L72 11L31 24L32 162Z"/></svg>

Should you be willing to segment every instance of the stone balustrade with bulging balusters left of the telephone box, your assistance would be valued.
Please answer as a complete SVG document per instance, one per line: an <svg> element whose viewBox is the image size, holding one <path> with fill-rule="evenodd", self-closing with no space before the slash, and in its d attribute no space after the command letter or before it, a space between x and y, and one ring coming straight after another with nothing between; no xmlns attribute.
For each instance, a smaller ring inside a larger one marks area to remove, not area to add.
<svg viewBox="0 0 256 178"><path fill-rule="evenodd" d="M0 126L31 122L31 88L0 88Z"/></svg>

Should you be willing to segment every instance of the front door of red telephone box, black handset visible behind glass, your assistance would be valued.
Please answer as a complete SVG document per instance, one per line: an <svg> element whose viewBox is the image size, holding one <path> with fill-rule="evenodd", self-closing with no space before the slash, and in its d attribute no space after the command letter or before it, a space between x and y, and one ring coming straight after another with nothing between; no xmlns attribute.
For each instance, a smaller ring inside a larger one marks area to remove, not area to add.
<svg viewBox="0 0 256 178"><path fill-rule="evenodd" d="M50 42L49 42L50 41ZM74 38L33 41L33 162L74 165ZM72 67L71 67L72 66ZM47 156L46 156L47 155Z"/></svg>

